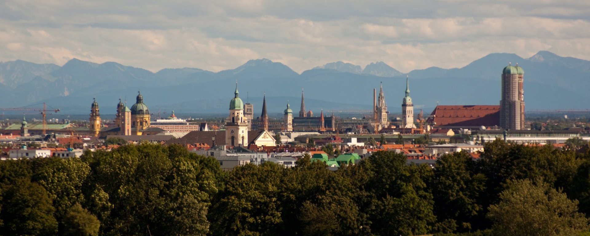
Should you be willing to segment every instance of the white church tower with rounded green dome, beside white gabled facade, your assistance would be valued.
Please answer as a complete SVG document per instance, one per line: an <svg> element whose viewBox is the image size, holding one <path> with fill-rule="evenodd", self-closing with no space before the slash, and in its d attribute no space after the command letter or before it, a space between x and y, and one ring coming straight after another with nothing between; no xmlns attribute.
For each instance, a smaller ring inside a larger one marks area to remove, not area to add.
<svg viewBox="0 0 590 236"><path fill-rule="evenodd" d="M230 101L230 116L225 119L225 145L248 146L248 117L244 116L244 102L238 97L238 82L234 95Z"/></svg>

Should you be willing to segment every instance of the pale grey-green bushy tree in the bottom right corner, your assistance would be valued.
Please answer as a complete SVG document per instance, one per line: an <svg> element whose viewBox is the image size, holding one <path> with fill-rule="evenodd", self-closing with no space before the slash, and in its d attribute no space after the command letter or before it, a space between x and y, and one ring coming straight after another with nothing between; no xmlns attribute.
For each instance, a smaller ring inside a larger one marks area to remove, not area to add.
<svg viewBox="0 0 590 236"><path fill-rule="evenodd" d="M487 217L498 235L578 235L589 228L578 201L528 179L510 181L500 202L489 210Z"/></svg>

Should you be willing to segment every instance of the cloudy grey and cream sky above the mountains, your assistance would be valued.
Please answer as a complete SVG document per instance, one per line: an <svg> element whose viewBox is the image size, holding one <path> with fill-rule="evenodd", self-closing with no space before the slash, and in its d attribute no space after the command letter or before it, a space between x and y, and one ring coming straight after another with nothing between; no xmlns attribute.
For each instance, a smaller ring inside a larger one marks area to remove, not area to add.
<svg viewBox="0 0 590 236"><path fill-rule="evenodd" d="M408 72L540 50L590 60L588 0L2 0L0 61L219 71L268 58Z"/></svg>

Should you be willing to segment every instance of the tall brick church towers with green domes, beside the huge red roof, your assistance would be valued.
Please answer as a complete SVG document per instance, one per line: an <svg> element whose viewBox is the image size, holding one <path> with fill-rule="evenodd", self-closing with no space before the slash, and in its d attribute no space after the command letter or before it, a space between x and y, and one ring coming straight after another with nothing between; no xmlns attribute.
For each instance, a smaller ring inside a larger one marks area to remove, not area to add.
<svg viewBox="0 0 590 236"><path fill-rule="evenodd" d="M500 126L506 130L525 129L525 71L518 64L509 64L502 71Z"/></svg>

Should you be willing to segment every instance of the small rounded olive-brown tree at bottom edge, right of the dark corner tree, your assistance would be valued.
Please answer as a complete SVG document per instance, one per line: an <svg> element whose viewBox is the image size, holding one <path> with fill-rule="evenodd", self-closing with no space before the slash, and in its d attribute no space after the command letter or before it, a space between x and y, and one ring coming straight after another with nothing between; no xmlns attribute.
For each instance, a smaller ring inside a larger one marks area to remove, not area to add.
<svg viewBox="0 0 590 236"><path fill-rule="evenodd" d="M65 235L99 235L100 221L80 204L75 204L63 219Z"/></svg>

